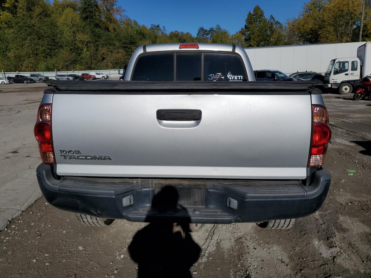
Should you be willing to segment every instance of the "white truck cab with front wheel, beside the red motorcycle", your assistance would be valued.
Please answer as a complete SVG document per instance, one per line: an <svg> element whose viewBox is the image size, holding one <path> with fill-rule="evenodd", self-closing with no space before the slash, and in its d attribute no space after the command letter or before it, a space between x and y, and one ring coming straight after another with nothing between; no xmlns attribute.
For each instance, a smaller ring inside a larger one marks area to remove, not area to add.
<svg viewBox="0 0 371 278"><path fill-rule="evenodd" d="M325 72L325 87L339 89L339 93L348 94L359 85L361 61L357 57L332 59Z"/></svg>

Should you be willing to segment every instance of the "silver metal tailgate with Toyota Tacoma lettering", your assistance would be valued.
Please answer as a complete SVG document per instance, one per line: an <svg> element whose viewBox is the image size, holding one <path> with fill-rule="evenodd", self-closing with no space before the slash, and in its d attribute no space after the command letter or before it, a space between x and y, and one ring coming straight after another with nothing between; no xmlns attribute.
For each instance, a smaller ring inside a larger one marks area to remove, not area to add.
<svg viewBox="0 0 371 278"><path fill-rule="evenodd" d="M158 109L202 117L161 121ZM52 106L56 171L68 176L303 179L311 123L311 95L59 93Z"/></svg>

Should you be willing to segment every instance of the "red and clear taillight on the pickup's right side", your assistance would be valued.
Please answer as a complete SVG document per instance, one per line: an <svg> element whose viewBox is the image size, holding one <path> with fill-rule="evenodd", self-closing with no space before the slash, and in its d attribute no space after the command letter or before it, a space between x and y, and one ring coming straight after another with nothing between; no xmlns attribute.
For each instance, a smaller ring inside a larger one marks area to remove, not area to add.
<svg viewBox="0 0 371 278"><path fill-rule="evenodd" d="M322 166L325 161L328 142L331 139L331 129L326 107L312 105L312 140L308 167Z"/></svg>

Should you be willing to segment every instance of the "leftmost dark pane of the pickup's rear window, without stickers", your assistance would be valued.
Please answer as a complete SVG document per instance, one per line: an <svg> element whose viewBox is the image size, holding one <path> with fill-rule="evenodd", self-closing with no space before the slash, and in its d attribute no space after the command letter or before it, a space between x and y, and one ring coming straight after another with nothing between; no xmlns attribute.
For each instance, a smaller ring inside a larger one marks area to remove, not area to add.
<svg viewBox="0 0 371 278"><path fill-rule="evenodd" d="M151 54L138 58L134 81L174 81L174 54Z"/></svg>

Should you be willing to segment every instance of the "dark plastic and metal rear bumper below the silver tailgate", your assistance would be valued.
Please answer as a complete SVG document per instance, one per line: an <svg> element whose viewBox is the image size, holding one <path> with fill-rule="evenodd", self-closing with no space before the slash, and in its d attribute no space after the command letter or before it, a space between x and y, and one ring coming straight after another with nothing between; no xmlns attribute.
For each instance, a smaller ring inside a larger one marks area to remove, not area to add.
<svg viewBox="0 0 371 278"><path fill-rule="evenodd" d="M57 180L51 167L44 163L36 173L43 195L57 208L138 222L158 219L218 224L298 218L321 207L331 182L331 175L324 169L313 173L309 186L301 181L79 177ZM176 189L175 195L163 194L160 203L165 206L154 207L154 196L169 186Z"/></svg>

